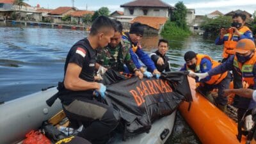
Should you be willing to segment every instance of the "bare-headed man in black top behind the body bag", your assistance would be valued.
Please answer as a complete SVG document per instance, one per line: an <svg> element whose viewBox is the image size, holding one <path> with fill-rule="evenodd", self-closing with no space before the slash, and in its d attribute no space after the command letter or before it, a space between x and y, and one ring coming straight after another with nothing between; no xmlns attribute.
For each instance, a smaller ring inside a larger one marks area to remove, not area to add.
<svg viewBox="0 0 256 144"><path fill-rule="evenodd" d="M169 58L165 55L168 50L168 41L164 39L160 39L158 42L158 50L156 52L152 52L150 54L150 58L154 61L156 68L159 72L170 72L170 63Z"/></svg>

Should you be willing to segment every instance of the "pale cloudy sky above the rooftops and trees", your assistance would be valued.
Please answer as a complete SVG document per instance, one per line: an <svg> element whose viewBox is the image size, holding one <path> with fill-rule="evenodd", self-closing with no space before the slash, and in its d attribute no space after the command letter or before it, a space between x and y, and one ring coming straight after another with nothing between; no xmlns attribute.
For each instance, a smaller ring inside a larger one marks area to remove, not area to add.
<svg viewBox="0 0 256 144"><path fill-rule="evenodd" d="M107 6L111 12L115 10L123 11L120 8L120 4L128 3L131 0L74 0L74 6L81 10L98 10L102 6ZM172 6L178 1L163 0ZM72 0L25 0L26 3L31 6L40 6L44 8L57 8L58 6L72 6ZM256 0L184 0L183 3L187 8L195 8L196 15L205 15L215 10L219 10L221 13L228 13L232 10L246 10L249 13L254 13L256 10Z"/></svg>

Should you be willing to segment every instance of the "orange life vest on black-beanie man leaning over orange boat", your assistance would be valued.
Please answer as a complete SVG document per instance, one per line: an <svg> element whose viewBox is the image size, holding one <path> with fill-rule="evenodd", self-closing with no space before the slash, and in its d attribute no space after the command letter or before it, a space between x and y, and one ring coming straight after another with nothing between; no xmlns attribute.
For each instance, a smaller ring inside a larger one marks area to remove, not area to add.
<svg viewBox="0 0 256 144"><path fill-rule="evenodd" d="M217 67L218 65L220 65L220 63L218 63L218 61L212 60L210 56L207 56L205 54L196 54L196 59L197 59L196 60L196 67L195 67L195 70L193 70L193 72L200 72L200 63L201 63L203 58L207 58L208 60L211 61L212 68ZM191 70L188 67L188 65L187 65L187 70ZM205 83L207 83L207 84L218 84L223 79L225 79L226 76L227 76L227 72L224 72L222 74L217 74L217 75L211 76L211 79L209 81L206 81Z"/></svg>

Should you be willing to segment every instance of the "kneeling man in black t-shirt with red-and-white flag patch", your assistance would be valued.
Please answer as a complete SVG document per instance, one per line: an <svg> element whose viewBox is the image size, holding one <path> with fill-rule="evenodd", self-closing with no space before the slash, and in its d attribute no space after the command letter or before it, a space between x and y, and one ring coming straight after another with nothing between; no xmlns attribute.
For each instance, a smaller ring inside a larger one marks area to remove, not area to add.
<svg viewBox="0 0 256 144"><path fill-rule="evenodd" d="M91 143L106 143L118 124L113 107L93 99L95 91L104 99L106 86L94 82L97 47L105 47L115 29L108 17L93 21L90 35L72 46L65 62L65 76L58 85L58 97L70 122L83 124L78 136Z"/></svg>

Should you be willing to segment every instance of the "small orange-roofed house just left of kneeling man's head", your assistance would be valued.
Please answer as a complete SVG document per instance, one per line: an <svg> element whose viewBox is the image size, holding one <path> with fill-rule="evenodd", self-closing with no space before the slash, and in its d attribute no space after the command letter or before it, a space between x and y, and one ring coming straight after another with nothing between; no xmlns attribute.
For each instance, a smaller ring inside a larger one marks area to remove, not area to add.
<svg viewBox="0 0 256 144"><path fill-rule="evenodd" d="M71 22L76 24L83 24L83 17L85 15L93 15L93 11L88 10L77 10L75 12L70 13L71 16Z"/></svg>

